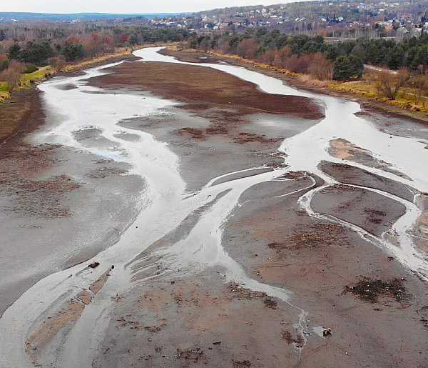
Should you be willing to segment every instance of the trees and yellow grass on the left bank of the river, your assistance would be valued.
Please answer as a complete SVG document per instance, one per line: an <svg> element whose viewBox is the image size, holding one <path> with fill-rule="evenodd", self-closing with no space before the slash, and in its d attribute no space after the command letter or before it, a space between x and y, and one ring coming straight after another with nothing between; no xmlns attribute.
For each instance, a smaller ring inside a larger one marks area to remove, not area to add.
<svg viewBox="0 0 428 368"><path fill-rule="evenodd" d="M189 35L187 30L137 26L48 25L1 30L0 101L56 71L126 56L143 44L183 41Z"/></svg>

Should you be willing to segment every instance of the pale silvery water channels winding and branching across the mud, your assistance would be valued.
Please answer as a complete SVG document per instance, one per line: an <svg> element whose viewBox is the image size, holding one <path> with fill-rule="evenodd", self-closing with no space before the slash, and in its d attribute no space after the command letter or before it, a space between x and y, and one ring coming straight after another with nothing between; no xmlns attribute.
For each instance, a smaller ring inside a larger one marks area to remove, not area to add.
<svg viewBox="0 0 428 368"><path fill-rule="evenodd" d="M134 54L142 61L162 61L178 63L169 56L158 54L158 48L141 49ZM190 64L190 63L182 63ZM192 64L195 65L195 64ZM392 225L388 234L377 237L355 224L345 222L330 215L318 214L311 207L311 199L325 187L337 184L337 181L319 169L321 161L344 163L328 153L328 146L332 139L342 138L356 146L372 152L375 158L386 161L395 171L404 174L398 176L393 171L383 171L356 162L347 162L352 166L360 167L373 174L399 181L419 192L428 192L428 150L426 141L412 137L392 136L379 131L374 124L366 119L356 116L360 111L359 104L332 96L315 95L305 91L298 91L286 86L282 81L255 71L231 66L228 64L198 64L201 68L215 68L240 79L257 84L258 87L269 94L285 94L305 96L315 99L325 109L325 119L300 134L285 139L281 146L287 166L274 171L243 177L231 181L215 184L219 178L208 182L199 192L189 195L185 191L185 181L180 176L179 159L164 144L144 131L137 131L116 124L123 119L134 116L156 115L159 109L173 106L174 101L158 99L154 96L138 94L116 94L114 91L103 91L96 87L86 85L86 80L104 73L101 66L89 69L84 75L66 78L54 78L39 86L44 91L44 101L47 111L52 116L58 116L56 124L49 129L39 131L35 137L39 143L56 143L71 146L75 149L90 151L92 154L124 161L131 164L131 174L141 176L145 182L145 191L141 197L141 212L132 226L121 235L120 240L112 247L97 254L93 259L101 264L114 264L114 272L108 277L102 289L97 293L96 299L88 304L81 317L68 329L66 335L56 337L61 349L59 352L46 352L41 364L48 366L55 360L57 367L71 367L69 362L73 359L73 367L90 367L93 354L103 339L103 332L108 324L108 307L111 297L126 292L130 287L133 276L132 269L138 266L138 254L158 241L190 216L198 213L193 227L184 237L167 249L160 249L168 264L168 271L158 277L168 277L178 271L185 274L195 274L200 270L215 265L224 267L225 280L245 284L245 287L290 302L290 291L272 287L252 279L245 274L243 268L229 257L222 247L221 239L223 225L233 209L238 205L240 195L246 189L265 181L275 180L288 171L306 171L315 174L325 181L320 187L313 186L309 192L302 194L299 199L300 206L312 217L320 217L330 222L342 224L357 232L374 246L381 247L388 254L396 257L405 267L417 272L420 277L428 279L428 260L422 252L414 246L409 229L412 228L420 209L414 202L394 196L379 189L365 188L377 194L382 194L400 202L406 208L406 213ZM58 88L75 85L77 88ZM102 129L101 135L108 139L108 146L86 145L77 141L73 132L84 129L85 121ZM122 139L118 131L133 134L138 139ZM310 146L310 149L307 147ZM405 152L405 154L403 154ZM229 173L233 174L233 173ZM220 177L223 177L222 175ZM298 191L297 191L298 192ZM417 200L417 195L414 201ZM141 236L144 229L144 236ZM78 264L71 269L51 274L41 279L37 284L27 290L21 297L4 312L0 319L0 367L33 367L31 354L26 352L29 334L52 311L66 303L83 289L103 277L106 269L98 267L88 269L85 264ZM141 263L141 267L144 266ZM294 307L294 306L293 306ZM299 320L302 335L305 336L307 313L298 306ZM83 352L83 354L82 354ZM77 361L76 361L77 359Z"/></svg>

